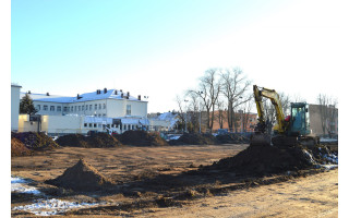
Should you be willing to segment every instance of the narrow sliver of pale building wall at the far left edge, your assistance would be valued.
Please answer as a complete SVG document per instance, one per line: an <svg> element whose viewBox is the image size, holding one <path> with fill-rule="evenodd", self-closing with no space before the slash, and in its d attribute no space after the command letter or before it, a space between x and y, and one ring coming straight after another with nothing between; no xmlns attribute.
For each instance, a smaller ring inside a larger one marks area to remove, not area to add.
<svg viewBox="0 0 349 218"><path fill-rule="evenodd" d="M11 84L11 131L19 130L21 88L20 85Z"/></svg>

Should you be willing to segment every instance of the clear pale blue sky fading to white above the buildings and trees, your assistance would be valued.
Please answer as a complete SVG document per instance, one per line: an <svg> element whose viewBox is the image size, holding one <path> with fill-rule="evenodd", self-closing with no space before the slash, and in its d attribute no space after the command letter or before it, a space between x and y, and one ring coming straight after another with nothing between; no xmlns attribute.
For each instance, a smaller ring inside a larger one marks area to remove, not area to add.
<svg viewBox="0 0 349 218"><path fill-rule="evenodd" d="M328 77L316 80L340 73L346 12L301 2L12 0L11 81L68 96L130 90L164 112L208 68L240 66L261 86L314 102L320 92L336 95L323 89Z"/></svg>

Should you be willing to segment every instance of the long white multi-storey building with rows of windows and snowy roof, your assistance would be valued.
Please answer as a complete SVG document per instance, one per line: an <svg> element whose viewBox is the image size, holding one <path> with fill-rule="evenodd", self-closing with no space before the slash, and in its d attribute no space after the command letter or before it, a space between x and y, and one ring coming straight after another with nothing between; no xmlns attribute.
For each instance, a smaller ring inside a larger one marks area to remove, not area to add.
<svg viewBox="0 0 349 218"><path fill-rule="evenodd" d="M21 98L26 93L21 93ZM75 97L28 92L35 116L20 116L20 132L45 131L49 134L82 133L148 128L147 100L117 89L97 89ZM39 117L39 118L38 118Z"/></svg>

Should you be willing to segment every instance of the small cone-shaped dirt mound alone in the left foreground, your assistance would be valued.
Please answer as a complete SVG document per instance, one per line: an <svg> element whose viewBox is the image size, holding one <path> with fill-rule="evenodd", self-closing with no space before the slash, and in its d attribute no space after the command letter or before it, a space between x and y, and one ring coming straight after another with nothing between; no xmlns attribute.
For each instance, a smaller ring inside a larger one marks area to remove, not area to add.
<svg viewBox="0 0 349 218"><path fill-rule="evenodd" d="M111 180L100 174L96 168L88 165L84 159L80 159L76 165L68 168L63 174L53 180L48 180L46 183L82 192L103 190L113 184Z"/></svg>

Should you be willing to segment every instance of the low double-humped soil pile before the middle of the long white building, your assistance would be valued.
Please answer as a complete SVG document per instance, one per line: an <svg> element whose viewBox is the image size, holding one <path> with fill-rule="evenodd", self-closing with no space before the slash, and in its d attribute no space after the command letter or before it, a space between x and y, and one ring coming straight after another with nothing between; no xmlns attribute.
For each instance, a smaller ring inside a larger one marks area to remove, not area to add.
<svg viewBox="0 0 349 218"><path fill-rule="evenodd" d="M122 145L117 138L107 133L96 133L92 136L69 134L60 136L56 142L60 146L68 147L117 147Z"/></svg>

